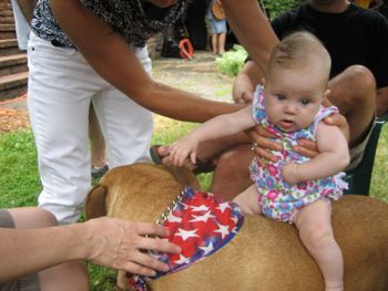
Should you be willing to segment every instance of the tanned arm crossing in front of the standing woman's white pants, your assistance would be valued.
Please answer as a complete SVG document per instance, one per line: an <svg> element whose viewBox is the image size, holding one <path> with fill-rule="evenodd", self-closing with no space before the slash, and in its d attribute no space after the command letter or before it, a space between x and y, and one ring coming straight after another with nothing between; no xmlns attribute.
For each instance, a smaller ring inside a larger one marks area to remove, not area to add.
<svg viewBox="0 0 388 291"><path fill-rule="evenodd" d="M140 105L175 119L204 122L242 108L154 82L125 41L80 0L52 0L62 30L93 69Z"/></svg>

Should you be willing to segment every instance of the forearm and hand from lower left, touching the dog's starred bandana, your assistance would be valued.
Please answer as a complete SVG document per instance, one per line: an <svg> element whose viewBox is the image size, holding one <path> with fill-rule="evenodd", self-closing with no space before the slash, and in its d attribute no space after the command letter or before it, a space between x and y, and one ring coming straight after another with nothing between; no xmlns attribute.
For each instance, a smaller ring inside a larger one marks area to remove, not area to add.
<svg viewBox="0 0 388 291"><path fill-rule="evenodd" d="M144 238L163 237L166 230L153 224L98 218L83 224L41 229L0 228L0 282L72 260L153 276L169 267L144 250L178 252L170 242Z"/></svg>

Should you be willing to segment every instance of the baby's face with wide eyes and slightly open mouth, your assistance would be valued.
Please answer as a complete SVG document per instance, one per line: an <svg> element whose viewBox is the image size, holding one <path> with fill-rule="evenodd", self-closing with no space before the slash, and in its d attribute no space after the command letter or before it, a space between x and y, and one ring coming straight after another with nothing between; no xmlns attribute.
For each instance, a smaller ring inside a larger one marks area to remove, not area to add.
<svg viewBox="0 0 388 291"><path fill-rule="evenodd" d="M313 67L273 67L265 82L265 111L283 132L309 126L326 94L323 74Z"/></svg>

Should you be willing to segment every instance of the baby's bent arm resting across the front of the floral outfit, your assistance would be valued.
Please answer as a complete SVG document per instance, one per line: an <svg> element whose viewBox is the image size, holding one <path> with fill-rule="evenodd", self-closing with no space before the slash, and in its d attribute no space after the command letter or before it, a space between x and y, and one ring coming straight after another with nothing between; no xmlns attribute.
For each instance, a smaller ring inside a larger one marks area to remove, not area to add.
<svg viewBox="0 0 388 291"><path fill-rule="evenodd" d="M319 154L304 164L288 164L282 175L289 184L333 176L341 172L350 160L348 144L337 126L319 123L317 127Z"/></svg>

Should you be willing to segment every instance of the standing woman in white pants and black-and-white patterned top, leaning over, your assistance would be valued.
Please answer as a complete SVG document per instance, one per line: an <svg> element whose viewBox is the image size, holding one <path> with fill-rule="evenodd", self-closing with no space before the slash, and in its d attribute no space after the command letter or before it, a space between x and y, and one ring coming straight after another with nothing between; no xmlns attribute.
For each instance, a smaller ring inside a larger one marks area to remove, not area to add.
<svg viewBox="0 0 388 291"><path fill-rule="evenodd" d="M257 2L223 2L236 35L265 67L277 40ZM91 102L112 168L149 158L150 111L203 122L241 107L200 98L150 77L146 39L173 24L187 4L187 0L38 1L28 49L29 112L43 185L39 205L60 224L78 220L90 188ZM257 27L263 27L261 37L255 35Z"/></svg>

